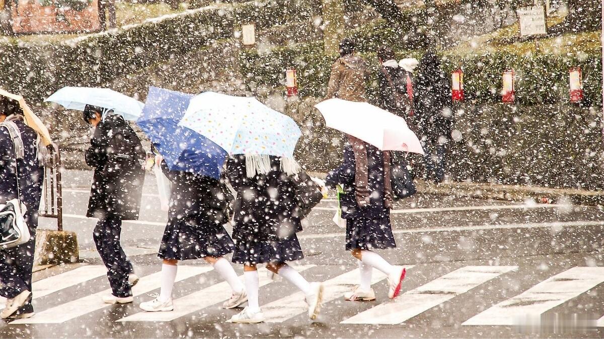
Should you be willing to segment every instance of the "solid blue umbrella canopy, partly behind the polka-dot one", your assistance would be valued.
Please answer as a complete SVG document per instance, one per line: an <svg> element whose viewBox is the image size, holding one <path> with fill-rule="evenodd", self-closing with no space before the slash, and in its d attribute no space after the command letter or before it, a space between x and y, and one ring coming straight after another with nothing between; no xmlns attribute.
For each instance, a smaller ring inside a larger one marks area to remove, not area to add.
<svg viewBox="0 0 604 339"><path fill-rule="evenodd" d="M145 132L172 171L189 171L220 178L226 152L178 122L193 95L150 87L137 125Z"/></svg>

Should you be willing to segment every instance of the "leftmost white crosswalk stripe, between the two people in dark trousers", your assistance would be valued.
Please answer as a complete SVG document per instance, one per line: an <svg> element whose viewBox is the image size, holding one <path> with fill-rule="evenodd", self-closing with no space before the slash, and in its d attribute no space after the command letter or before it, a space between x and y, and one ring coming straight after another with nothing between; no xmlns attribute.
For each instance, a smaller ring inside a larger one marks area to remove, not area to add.
<svg viewBox="0 0 604 339"><path fill-rule="evenodd" d="M38 299L48 294L63 290L64 288L83 284L88 280L96 277L104 276L107 273L107 268L103 265L86 265L55 276L47 277L38 280L31 284L33 290L33 299ZM4 306L5 298L1 298L1 305Z"/></svg>

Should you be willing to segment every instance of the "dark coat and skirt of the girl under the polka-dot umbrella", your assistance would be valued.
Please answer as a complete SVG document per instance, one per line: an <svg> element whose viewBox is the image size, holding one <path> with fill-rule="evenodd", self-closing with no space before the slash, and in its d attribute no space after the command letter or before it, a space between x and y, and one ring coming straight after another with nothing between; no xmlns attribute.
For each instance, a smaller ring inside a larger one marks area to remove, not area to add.
<svg viewBox="0 0 604 339"><path fill-rule="evenodd" d="M304 258L296 232L302 230L297 218L295 184L280 171L271 156L271 171L246 175L246 158L233 156L226 162L228 180L237 191L233 205L233 262L260 264Z"/></svg>

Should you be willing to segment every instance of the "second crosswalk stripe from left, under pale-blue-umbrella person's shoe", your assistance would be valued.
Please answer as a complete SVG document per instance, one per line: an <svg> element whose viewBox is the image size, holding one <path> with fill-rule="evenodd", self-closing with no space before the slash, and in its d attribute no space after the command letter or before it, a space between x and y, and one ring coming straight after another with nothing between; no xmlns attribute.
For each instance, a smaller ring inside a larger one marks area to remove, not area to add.
<svg viewBox="0 0 604 339"><path fill-rule="evenodd" d="M206 273L211 271L210 266L191 266L182 265L178 268L176 274L176 281L188 279L198 274ZM140 296L141 294L148 293L150 291L159 288L160 286L161 271L150 274L149 276L141 277L138 284L132 288L133 296ZM42 312L36 314L35 317L27 319L19 319L11 322L11 324L58 324L64 323L73 318L80 317L82 315L98 311L99 309L111 306L110 304L103 303L103 296L111 294L111 288L98 293L90 294L89 296L82 297L80 299L72 300L62 305L45 309Z"/></svg>

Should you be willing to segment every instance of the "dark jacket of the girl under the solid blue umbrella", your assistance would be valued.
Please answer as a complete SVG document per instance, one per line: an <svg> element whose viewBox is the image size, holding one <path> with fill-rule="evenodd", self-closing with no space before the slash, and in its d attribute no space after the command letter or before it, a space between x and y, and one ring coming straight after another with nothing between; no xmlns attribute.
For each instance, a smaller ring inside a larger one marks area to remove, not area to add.
<svg viewBox="0 0 604 339"><path fill-rule="evenodd" d="M233 195L220 180L170 171L165 161L162 161L161 169L172 183L168 223L198 226L208 233L222 229L222 225L228 223L228 205Z"/></svg>

